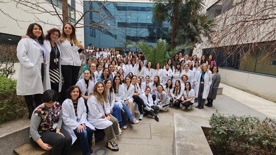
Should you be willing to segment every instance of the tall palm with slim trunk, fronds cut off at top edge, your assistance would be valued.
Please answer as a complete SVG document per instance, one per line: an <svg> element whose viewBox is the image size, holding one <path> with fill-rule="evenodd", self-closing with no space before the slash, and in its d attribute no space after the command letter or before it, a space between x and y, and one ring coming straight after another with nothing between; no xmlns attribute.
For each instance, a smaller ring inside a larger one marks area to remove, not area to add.
<svg viewBox="0 0 276 155"><path fill-rule="evenodd" d="M178 12L182 5L182 0L152 0L154 2L152 18L157 22L168 21L172 25L171 49L175 47L174 39L177 35Z"/></svg>

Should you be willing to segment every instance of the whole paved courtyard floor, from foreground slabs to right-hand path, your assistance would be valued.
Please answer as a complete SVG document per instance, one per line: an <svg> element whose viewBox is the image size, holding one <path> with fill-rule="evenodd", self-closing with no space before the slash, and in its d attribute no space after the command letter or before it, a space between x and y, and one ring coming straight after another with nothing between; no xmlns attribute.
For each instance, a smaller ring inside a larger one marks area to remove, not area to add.
<svg viewBox="0 0 276 155"><path fill-rule="evenodd" d="M169 107L168 111L158 112L159 122L153 117L146 116L137 125L129 124L126 130L123 130L121 136L115 141L118 143L119 151L109 151L108 155L171 155L173 154L173 131L174 131L174 113L187 115L210 117L215 110L224 114L235 114L238 116L251 115L265 118L268 115L275 117L272 110L276 103L267 101L263 98L254 96L244 91L220 84L223 88L223 94L218 95L213 102L213 107L204 107L204 109L195 108L197 103L192 105L190 110ZM252 102L254 101L254 102ZM257 104L259 103L259 104ZM259 106L258 106L259 105ZM268 110L268 111L266 111ZM138 118L139 112L135 111L135 117ZM190 135L196 136L196 135ZM96 143L93 150L98 147L104 147L106 139ZM80 147L73 145L72 155L81 154Z"/></svg>

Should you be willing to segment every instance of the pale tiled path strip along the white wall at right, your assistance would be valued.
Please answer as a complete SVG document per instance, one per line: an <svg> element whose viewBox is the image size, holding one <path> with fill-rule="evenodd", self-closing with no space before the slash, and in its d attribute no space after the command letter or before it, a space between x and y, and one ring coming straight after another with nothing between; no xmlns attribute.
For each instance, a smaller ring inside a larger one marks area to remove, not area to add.
<svg viewBox="0 0 276 155"><path fill-rule="evenodd" d="M220 83L220 87L223 87L223 95L259 111L268 117L276 118L276 103L222 83Z"/></svg>

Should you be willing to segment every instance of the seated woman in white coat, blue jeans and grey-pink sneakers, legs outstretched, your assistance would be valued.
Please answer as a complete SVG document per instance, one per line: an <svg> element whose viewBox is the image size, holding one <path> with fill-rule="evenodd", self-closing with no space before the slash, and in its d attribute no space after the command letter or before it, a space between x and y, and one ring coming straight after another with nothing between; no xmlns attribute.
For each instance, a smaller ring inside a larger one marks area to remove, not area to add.
<svg viewBox="0 0 276 155"><path fill-rule="evenodd" d="M115 75L113 79L113 90L115 94L115 105L119 106L121 110L124 111L121 112L122 115L122 125L123 129L127 129L127 116L129 116L130 123L131 124L138 124L139 121L137 121L134 116L131 114L129 108L125 104L124 97L125 97L125 89L122 85L122 81L119 78L119 75Z"/></svg>

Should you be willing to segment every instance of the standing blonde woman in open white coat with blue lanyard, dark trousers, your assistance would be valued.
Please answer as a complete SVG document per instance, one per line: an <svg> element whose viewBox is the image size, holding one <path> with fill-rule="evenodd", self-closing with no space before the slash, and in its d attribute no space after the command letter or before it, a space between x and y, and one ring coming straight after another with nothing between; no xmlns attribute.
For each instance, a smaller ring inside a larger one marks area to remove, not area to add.
<svg viewBox="0 0 276 155"><path fill-rule="evenodd" d="M210 85L212 84L212 74L209 72L207 65L203 64L200 68L200 74L197 79L196 94L198 105L196 108L203 109L204 102L209 95Z"/></svg>

